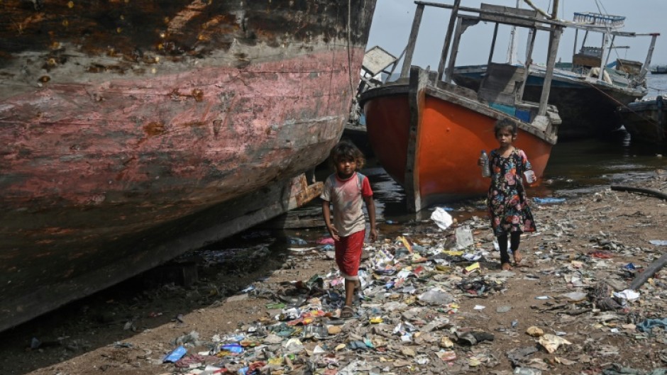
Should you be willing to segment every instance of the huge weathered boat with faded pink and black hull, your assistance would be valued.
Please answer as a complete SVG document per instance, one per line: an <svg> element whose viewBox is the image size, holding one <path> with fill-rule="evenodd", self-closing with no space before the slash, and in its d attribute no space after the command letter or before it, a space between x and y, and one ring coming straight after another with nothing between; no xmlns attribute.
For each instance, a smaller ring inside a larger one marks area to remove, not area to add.
<svg viewBox="0 0 667 375"><path fill-rule="evenodd" d="M375 0L0 9L5 330L319 194Z"/></svg>

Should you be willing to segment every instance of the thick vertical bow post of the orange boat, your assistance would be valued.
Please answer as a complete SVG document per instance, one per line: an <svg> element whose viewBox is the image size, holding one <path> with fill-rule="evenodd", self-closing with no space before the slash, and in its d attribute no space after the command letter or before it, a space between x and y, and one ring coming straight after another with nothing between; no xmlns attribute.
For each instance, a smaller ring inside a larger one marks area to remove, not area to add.
<svg viewBox="0 0 667 375"><path fill-rule="evenodd" d="M410 212L421 210L421 194L419 193L419 127L421 115L426 101L426 85L429 74L420 67L410 69L410 85L408 89L408 104L410 107L410 128L408 131L407 159L405 162L405 194L407 208Z"/></svg>

